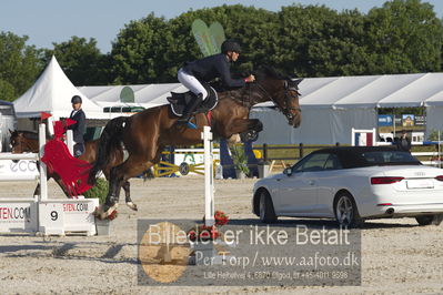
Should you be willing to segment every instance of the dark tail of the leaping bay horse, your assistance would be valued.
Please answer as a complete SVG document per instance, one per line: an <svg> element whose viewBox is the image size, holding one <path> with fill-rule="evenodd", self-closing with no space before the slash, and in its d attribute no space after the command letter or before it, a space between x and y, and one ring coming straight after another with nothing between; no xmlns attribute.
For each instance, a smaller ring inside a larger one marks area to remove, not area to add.
<svg viewBox="0 0 443 295"><path fill-rule="evenodd" d="M118 146L121 146L123 130L127 121L128 116L119 116L109 121L104 126L98 143L95 162L93 163L92 169L89 171L88 181L90 184L95 183L97 173L108 165L111 152L115 148L121 149Z"/></svg>

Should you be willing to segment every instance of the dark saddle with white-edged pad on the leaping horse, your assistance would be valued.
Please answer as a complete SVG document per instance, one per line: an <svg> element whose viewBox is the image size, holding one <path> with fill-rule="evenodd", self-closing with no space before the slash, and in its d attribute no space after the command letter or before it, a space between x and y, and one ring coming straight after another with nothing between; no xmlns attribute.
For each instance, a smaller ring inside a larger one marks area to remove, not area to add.
<svg viewBox="0 0 443 295"><path fill-rule="evenodd" d="M209 112L214 109L219 102L217 91L207 83L202 83L202 85L208 91L208 98L199 106L197 106L192 114ZM191 91L182 93L171 92L171 96L168 98L168 101L171 103L170 105L172 113L178 116L182 116L184 109L191 101L194 100L194 98L197 98L197 95Z"/></svg>

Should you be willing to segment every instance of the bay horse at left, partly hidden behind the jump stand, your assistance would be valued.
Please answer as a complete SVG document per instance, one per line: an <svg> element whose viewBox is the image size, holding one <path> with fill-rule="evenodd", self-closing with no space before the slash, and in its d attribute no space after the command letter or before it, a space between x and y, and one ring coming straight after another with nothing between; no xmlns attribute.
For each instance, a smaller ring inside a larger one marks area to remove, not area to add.
<svg viewBox="0 0 443 295"><path fill-rule="evenodd" d="M32 131L20 131L9 130L10 133L10 143L11 143L11 152L14 154L20 153L38 153L39 152L39 134ZM78 159L87 161L88 163L95 162L97 155L97 148L98 148L99 140L94 141L87 141L84 143L84 153L81 154ZM123 162L123 149L120 144L112 146L112 155L109 162L109 166L103 169L103 174L107 179L109 179L109 173L111 167L120 164ZM67 197L70 197L69 192L66 190L64 185L61 182L60 176L53 172L48 172L48 180L53 179L61 187L63 193ZM124 182L122 185L125 194L125 202L127 205L137 211L137 205L131 200L131 192L130 192L130 183L129 181ZM40 194L40 183L37 185L33 195Z"/></svg>

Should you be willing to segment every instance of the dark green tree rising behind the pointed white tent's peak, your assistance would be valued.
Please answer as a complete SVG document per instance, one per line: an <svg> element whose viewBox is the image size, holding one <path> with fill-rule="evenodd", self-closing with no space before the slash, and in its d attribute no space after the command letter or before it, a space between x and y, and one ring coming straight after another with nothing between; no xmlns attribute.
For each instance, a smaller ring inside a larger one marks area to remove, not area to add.
<svg viewBox="0 0 443 295"><path fill-rule="evenodd" d="M95 39L72 37L62 43L52 43L52 50L46 50L44 61L56 55L64 73L74 85L108 84L109 57L97 48Z"/></svg>

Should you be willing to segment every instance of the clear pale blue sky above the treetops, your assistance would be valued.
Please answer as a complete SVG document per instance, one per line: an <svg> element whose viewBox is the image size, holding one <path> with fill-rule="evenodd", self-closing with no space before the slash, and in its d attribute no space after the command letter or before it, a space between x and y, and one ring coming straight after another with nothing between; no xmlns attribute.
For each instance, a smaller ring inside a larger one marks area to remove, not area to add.
<svg viewBox="0 0 443 295"><path fill-rule="evenodd" d="M189 10L222 4L254 6L270 11L300 3L324 4L338 11L358 9L366 13L382 7L385 0L2 0L0 31L28 35L28 45L52 49L72 35L94 38L102 53L111 50L112 41L124 24L153 12L155 17L171 19ZM443 0L422 0L434 6L443 17Z"/></svg>

